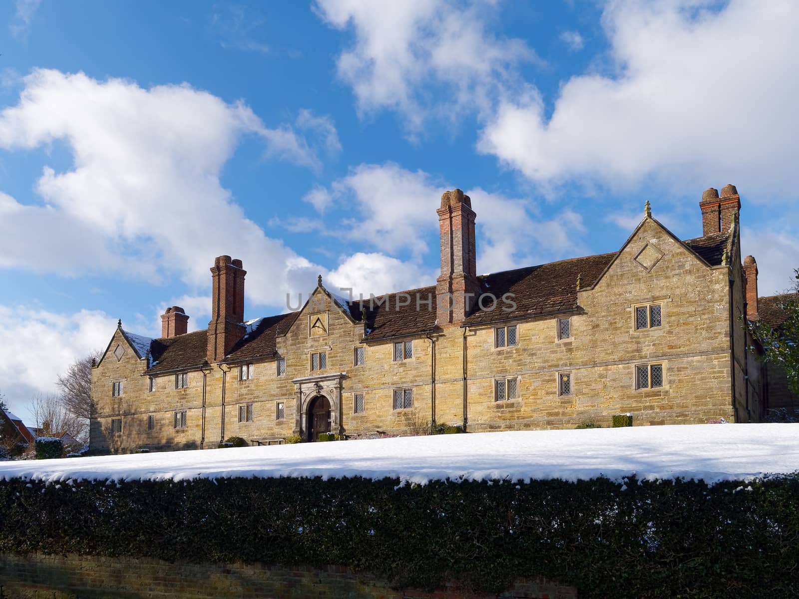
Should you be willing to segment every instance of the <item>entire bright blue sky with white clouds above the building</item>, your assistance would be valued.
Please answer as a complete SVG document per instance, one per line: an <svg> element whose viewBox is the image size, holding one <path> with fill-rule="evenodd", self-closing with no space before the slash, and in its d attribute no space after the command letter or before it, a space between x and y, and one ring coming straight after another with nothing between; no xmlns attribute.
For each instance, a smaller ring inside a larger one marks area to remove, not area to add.
<svg viewBox="0 0 799 599"><path fill-rule="evenodd" d="M617 250L650 200L741 192L761 295L799 265L791 2L0 4L0 391L24 412L117 318L246 315L321 273L435 280L441 192L481 272Z"/></svg>

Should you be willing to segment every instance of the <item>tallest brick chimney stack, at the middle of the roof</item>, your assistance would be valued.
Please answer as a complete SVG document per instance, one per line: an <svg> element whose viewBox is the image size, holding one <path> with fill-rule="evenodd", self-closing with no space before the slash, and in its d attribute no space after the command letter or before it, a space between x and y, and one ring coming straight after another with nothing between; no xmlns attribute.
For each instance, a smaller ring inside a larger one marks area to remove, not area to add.
<svg viewBox="0 0 799 599"><path fill-rule="evenodd" d="M439 325L445 326L461 323L479 297L475 248L477 215L471 209L471 199L460 189L444 192L441 208L435 212L439 215L441 236L441 276L436 280L435 295Z"/></svg>

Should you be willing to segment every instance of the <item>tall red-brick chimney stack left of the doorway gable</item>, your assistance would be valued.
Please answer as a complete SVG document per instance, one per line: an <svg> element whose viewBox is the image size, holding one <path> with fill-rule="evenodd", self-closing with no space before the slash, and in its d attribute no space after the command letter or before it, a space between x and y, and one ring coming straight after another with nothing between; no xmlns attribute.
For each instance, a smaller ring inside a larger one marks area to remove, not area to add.
<svg viewBox="0 0 799 599"><path fill-rule="evenodd" d="M241 260L219 256L213 262L211 277L213 293L211 322L208 323L208 351L210 363L219 362L228 355L233 345L244 336L244 276Z"/></svg>

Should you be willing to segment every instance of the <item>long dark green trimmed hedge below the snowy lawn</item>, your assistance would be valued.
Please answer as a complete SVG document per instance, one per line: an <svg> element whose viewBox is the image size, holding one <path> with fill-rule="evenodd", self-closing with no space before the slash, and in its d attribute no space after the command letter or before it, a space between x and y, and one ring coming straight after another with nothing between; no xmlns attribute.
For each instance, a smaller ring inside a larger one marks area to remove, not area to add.
<svg viewBox="0 0 799 599"><path fill-rule="evenodd" d="M0 553L346 565L397 587L799 597L799 476L707 486L233 478L0 482Z"/></svg>

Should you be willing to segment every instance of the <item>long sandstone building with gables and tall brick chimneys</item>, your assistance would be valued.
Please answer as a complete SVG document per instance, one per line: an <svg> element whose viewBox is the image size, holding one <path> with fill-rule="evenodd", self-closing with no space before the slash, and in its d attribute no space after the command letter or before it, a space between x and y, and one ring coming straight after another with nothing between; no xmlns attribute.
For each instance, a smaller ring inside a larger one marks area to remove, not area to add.
<svg viewBox="0 0 799 599"><path fill-rule="evenodd" d="M244 265L220 256L205 330L187 332L177 306L160 339L117 327L93 368L91 446L608 426L627 412L635 425L757 421L778 377L741 327L758 300L740 205L733 185L708 189L702 236L680 240L647 203L618 252L478 276L475 211L455 189L436 211L434 286L351 298L320 277L298 311L254 320Z"/></svg>

